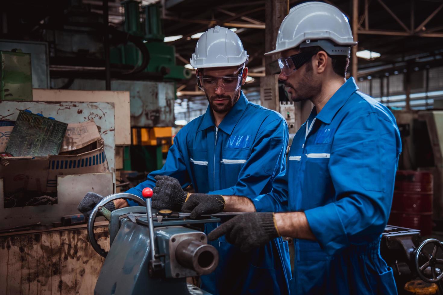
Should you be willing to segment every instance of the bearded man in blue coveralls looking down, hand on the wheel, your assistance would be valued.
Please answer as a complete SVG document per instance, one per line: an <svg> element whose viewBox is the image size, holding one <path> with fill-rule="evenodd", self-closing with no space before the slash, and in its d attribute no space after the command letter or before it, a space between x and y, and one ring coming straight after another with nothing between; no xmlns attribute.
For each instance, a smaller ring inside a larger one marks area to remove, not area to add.
<svg viewBox="0 0 443 295"><path fill-rule="evenodd" d="M207 111L178 132L163 168L149 173L128 193L141 196L144 188L151 187L153 207L182 211L185 200L198 199L199 193L255 197L271 191L272 180L285 169L288 125L279 113L249 102L241 91L248 57L233 31L216 26L202 34L190 64L197 69L198 86L209 101ZM190 184L193 194L182 190ZM167 195L171 197L165 199ZM84 199L79 206L85 213L96 204L91 193L86 197L89 201ZM109 209L128 204L136 205L116 200ZM208 206L224 204L215 201ZM216 227L206 223L205 232ZM224 237L211 244L220 260L213 273L201 276L203 290L214 295L288 294L288 241L276 237L248 254Z"/></svg>

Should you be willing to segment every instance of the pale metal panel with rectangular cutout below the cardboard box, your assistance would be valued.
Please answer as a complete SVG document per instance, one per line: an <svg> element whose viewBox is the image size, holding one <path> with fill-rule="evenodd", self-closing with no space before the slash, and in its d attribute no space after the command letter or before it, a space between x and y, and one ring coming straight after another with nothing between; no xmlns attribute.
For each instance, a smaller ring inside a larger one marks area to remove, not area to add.
<svg viewBox="0 0 443 295"><path fill-rule="evenodd" d="M41 222L51 225L62 216L78 214L77 206L87 192L99 195L113 193L113 173L87 173L57 177L57 203L4 208L3 179L0 178L0 230ZM1 294L1 293L0 293Z"/></svg>

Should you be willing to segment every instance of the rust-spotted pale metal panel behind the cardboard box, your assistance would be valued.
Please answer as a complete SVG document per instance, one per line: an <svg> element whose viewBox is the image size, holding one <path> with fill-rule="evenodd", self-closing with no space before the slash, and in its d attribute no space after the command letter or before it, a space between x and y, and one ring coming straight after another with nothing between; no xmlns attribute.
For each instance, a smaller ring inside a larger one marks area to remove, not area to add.
<svg viewBox="0 0 443 295"><path fill-rule="evenodd" d="M105 141L109 172L115 172L114 103L0 101L0 120L15 121L20 110L30 110L64 123L82 123L93 119Z"/></svg>

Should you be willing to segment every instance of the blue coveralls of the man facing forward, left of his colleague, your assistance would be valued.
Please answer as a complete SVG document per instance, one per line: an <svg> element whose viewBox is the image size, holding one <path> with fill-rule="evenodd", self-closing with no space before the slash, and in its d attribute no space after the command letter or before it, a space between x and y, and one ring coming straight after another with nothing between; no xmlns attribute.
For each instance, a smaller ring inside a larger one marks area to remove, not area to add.
<svg viewBox="0 0 443 295"><path fill-rule="evenodd" d="M243 92L218 127L212 110L184 126L174 138L162 169L128 190L141 196L153 188L155 175L175 177L195 192L254 198L272 189L286 166L288 125L283 117L249 102ZM135 203L129 201L130 205ZM217 227L206 223L206 234ZM220 254L218 268L202 276L202 289L212 294L288 294L291 279L288 242L281 238L249 253L226 242L210 242Z"/></svg>

